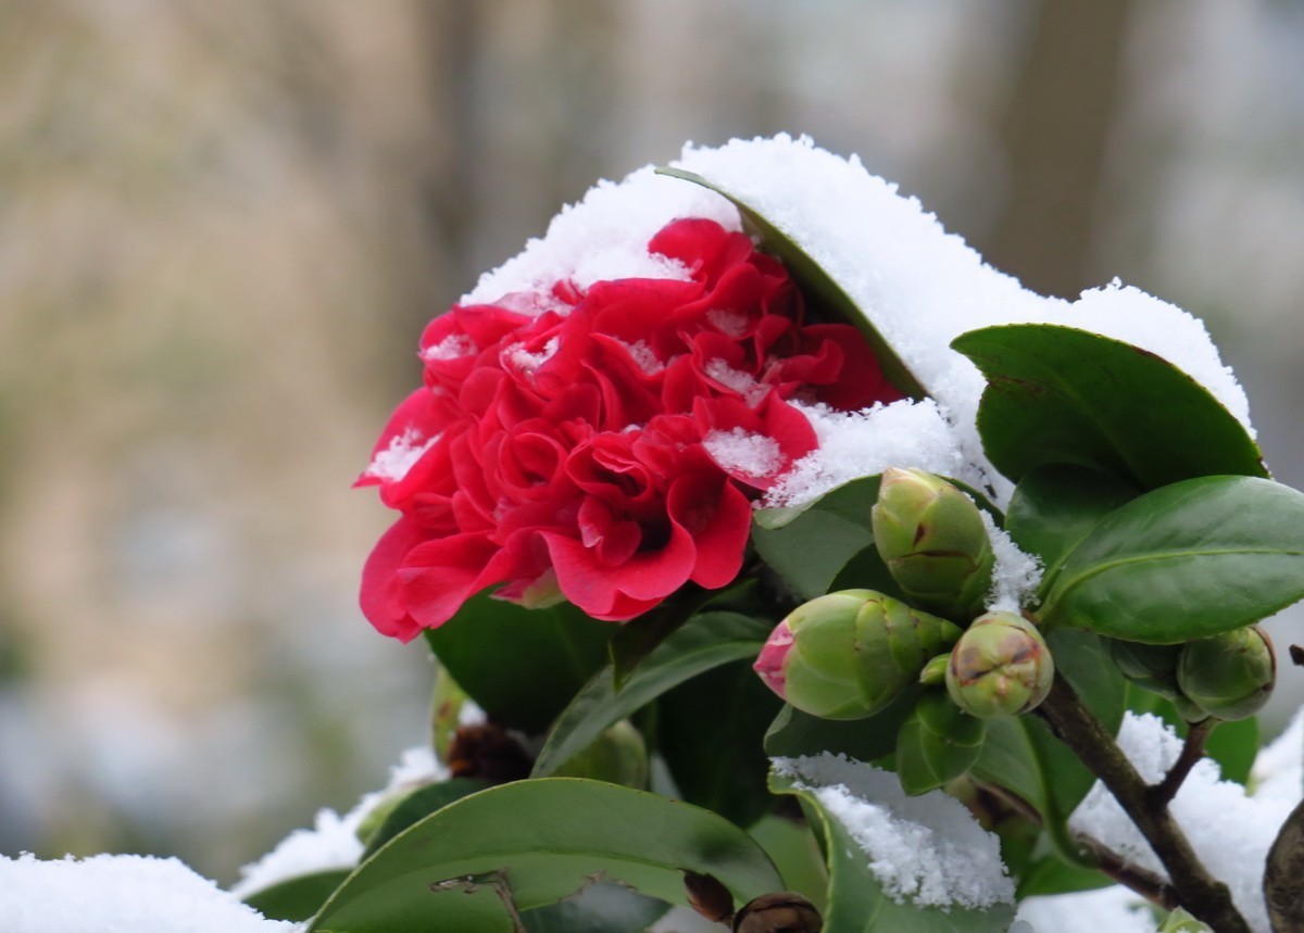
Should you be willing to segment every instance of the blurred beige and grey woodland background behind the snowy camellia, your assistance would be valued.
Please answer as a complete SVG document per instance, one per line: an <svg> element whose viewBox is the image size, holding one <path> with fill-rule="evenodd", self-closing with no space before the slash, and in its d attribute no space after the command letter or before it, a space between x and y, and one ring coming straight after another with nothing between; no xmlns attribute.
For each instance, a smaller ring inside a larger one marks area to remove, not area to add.
<svg viewBox="0 0 1304 933"><path fill-rule="evenodd" d="M349 483L421 326L595 180L778 130L1202 317L1304 485L1299 0L0 0L0 852L230 882L382 784L429 668Z"/></svg>

